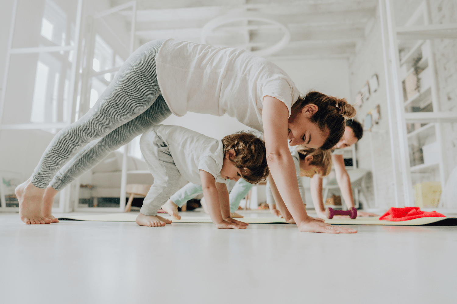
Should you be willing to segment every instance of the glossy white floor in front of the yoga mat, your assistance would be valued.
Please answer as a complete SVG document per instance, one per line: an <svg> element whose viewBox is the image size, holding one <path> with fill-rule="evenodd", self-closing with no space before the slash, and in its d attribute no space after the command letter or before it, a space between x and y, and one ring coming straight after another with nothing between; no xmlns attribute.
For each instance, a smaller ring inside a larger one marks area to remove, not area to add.
<svg viewBox="0 0 457 304"><path fill-rule="evenodd" d="M0 213L0 302L457 303L457 227L351 227L25 225Z"/></svg>

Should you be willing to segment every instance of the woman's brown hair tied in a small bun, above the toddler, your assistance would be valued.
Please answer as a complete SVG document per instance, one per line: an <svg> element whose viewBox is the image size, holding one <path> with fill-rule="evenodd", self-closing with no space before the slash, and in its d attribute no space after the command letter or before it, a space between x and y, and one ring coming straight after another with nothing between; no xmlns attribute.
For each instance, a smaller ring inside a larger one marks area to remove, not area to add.
<svg viewBox="0 0 457 304"><path fill-rule="evenodd" d="M345 117L356 115L356 109L347 103L344 98L336 98L316 91L308 92L305 97L299 97L292 105L292 113L298 113L304 106L315 104L318 107L316 113L311 116L311 122L317 124L321 131L328 130L329 136L320 147L322 150L333 148L345 130Z"/></svg>

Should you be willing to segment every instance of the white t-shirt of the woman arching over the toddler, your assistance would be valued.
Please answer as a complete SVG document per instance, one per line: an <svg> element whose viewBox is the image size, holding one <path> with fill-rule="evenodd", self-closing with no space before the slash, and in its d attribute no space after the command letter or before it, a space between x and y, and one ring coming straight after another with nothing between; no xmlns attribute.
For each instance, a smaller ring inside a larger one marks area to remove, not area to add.
<svg viewBox="0 0 457 304"><path fill-rule="evenodd" d="M300 95L280 67L244 50L167 39L155 61L161 94L177 116L227 113L263 132L263 97L281 100L290 116Z"/></svg>

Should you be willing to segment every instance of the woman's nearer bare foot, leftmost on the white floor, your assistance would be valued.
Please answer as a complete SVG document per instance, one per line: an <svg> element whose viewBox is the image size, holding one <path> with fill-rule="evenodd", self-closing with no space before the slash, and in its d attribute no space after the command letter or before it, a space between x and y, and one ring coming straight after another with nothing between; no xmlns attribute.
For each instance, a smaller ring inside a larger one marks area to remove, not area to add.
<svg viewBox="0 0 457 304"><path fill-rule="evenodd" d="M19 201L19 216L26 224L49 224L50 219L42 215L44 189L35 187L30 179L16 187L14 191Z"/></svg>

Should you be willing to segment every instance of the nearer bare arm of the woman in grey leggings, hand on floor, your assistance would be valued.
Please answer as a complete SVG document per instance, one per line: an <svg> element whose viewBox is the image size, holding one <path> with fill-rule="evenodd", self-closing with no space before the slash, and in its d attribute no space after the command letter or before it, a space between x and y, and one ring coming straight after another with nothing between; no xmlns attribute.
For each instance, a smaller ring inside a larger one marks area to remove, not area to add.
<svg viewBox="0 0 457 304"><path fill-rule="evenodd" d="M268 168L288 211L303 232L356 232L351 228L331 226L308 216L298 191L295 165L287 147L287 106L280 100L263 98L263 129Z"/></svg>

